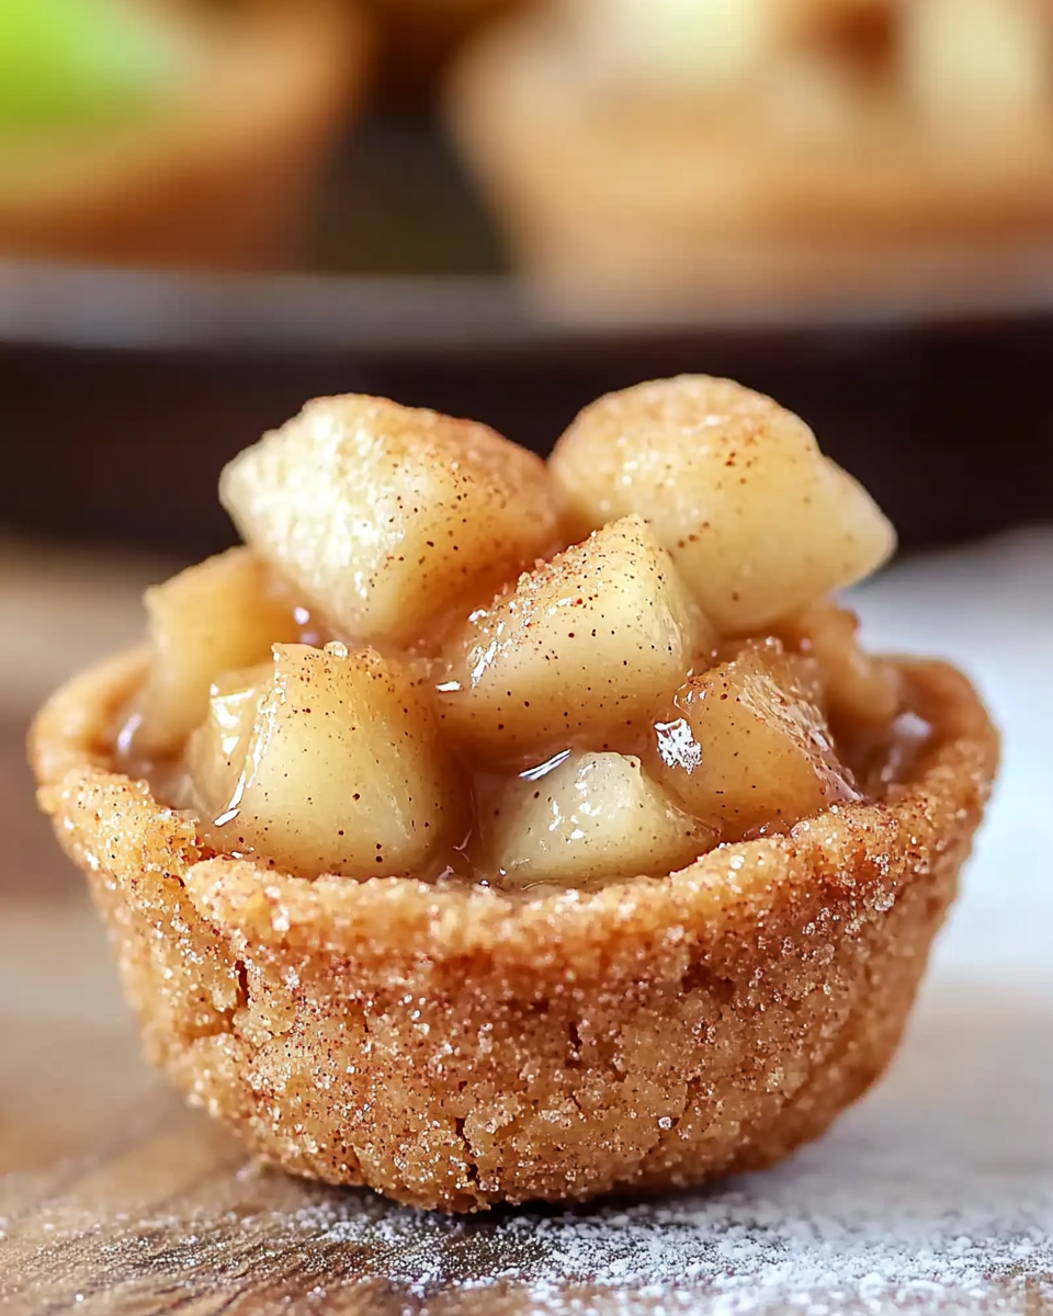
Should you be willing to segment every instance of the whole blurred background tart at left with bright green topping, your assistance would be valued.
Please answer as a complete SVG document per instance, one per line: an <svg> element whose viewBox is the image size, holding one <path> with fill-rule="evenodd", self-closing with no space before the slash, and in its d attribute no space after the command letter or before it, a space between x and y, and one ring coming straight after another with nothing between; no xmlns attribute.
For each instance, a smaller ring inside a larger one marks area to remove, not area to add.
<svg viewBox="0 0 1053 1316"><path fill-rule="evenodd" d="M4 0L0 255L300 257L365 72L347 0Z"/></svg>

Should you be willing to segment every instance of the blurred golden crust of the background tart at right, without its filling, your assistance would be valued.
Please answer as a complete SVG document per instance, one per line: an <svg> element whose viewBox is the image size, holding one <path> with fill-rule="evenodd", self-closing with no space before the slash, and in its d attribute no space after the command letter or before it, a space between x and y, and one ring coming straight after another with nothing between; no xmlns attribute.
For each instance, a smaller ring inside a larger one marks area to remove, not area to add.
<svg viewBox="0 0 1053 1316"><path fill-rule="evenodd" d="M827 72L725 103L634 93L540 13L466 53L446 114L536 292L570 312L1019 279L1053 228L1053 118L948 141L903 95Z"/></svg>

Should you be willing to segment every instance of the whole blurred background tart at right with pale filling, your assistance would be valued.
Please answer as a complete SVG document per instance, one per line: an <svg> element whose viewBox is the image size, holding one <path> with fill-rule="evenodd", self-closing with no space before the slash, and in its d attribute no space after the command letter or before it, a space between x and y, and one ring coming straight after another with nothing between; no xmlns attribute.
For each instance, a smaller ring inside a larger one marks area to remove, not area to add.
<svg viewBox="0 0 1053 1316"><path fill-rule="evenodd" d="M1044 0L555 0L450 122L549 297L616 311L946 279L1053 226Z"/></svg>

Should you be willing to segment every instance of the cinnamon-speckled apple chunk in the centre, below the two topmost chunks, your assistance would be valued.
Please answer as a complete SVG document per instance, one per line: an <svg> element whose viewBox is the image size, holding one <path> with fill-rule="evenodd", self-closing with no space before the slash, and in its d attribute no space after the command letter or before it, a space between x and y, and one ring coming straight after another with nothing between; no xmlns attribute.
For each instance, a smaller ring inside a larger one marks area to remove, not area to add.
<svg viewBox="0 0 1053 1316"><path fill-rule="evenodd" d="M712 636L640 517L525 572L445 650L448 734L487 762L538 762L573 744L646 733Z"/></svg>

